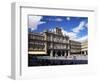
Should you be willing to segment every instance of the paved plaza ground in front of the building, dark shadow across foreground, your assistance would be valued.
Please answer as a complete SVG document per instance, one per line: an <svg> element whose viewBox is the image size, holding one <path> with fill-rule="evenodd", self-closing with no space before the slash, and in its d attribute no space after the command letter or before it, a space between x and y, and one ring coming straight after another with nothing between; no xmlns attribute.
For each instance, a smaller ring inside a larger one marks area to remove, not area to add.
<svg viewBox="0 0 100 82"><path fill-rule="evenodd" d="M50 65L76 65L88 64L88 56L73 55L69 57L57 56L32 56L28 60L28 66L50 66Z"/></svg>

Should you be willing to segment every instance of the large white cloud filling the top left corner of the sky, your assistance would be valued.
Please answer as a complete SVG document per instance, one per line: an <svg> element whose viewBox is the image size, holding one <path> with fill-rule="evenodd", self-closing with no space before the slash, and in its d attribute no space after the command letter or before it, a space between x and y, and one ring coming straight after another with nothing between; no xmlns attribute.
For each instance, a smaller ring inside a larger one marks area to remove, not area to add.
<svg viewBox="0 0 100 82"><path fill-rule="evenodd" d="M43 24L45 22L41 22L42 16L29 16L29 28L31 30L36 30L39 24Z"/></svg>

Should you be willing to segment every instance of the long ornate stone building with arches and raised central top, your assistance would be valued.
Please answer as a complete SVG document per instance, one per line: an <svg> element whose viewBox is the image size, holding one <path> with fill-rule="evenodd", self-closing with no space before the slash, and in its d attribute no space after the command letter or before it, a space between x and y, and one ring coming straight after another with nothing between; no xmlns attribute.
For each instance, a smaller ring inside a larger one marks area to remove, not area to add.
<svg viewBox="0 0 100 82"><path fill-rule="evenodd" d="M50 57L83 53L83 43L70 40L60 28L42 33L28 33L28 54ZM83 53L84 54L84 53Z"/></svg>

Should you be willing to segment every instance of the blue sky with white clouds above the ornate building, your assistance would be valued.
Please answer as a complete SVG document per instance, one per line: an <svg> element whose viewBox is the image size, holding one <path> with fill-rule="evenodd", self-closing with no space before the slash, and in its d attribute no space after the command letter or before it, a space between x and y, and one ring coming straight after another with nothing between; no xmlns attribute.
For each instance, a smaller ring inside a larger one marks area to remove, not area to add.
<svg viewBox="0 0 100 82"><path fill-rule="evenodd" d="M43 32L44 30L53 30L56 27L62 29L64 35L70 39L82 41L87 39L88 18L71 16L29 16L28 31Z"/></svg>

